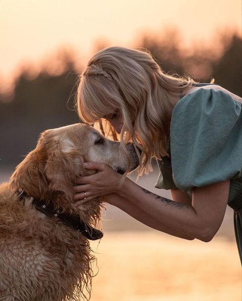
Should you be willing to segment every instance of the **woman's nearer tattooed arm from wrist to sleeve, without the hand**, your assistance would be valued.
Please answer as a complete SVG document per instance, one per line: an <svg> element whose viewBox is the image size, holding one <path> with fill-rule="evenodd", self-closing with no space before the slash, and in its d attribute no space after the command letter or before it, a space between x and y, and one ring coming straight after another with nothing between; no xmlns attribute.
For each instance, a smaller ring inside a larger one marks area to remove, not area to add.
<svg viewBox="0 0 242 301"><path fill-rule="evenodd" d="M155 195L128 178L118 194L126 198L129 196L130 202L165 225L187 236L208 242L223 221L229 183L228 180L193 189L191 205Z"/></svg>

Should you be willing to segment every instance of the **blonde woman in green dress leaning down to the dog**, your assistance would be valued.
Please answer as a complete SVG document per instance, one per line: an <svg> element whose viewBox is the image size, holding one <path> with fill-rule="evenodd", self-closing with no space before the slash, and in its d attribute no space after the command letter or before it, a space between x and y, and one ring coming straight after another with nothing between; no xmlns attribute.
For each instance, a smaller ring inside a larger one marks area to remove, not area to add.
<svg viewBox="0 0 242 301"><path fill-rule="evenodd" d="M219 229L227 203L234 209L242 260L241 98L215 84L166 75L147 52L110 47L96 53L81 74L78 112L122 147L141 149L139 174L160 168L157 196L98 163L77 179L77 205L96 196L140 222L180 238L208 242Z"/></svg>

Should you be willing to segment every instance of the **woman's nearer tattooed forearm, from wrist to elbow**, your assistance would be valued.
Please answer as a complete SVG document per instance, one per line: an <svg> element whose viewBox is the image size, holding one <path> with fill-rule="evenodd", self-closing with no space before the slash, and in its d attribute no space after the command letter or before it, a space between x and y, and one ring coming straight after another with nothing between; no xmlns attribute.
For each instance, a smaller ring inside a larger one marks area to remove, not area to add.
<svg viewBox="0 0 242 301"><path fill-rule="evenodd" d="M125 179L122 188L117 190L117 194L129 200L135 207L139 207L139 209L164 225L188 237L198 238L203 241L211 239L223 220L223 213L221 213L221 216L218 214L219 218L216 222L213 222L215 220L214 217L210 218L208 216L207 212L213 214L215 209L213 207L209 208L209 210L206 209L206 211L203 209L201 202L200 207L194 208L192 205L178 203L157 196L139 187L129 178ZM205 203L205 200L203 201ZM211 220L214 224L211 224Z"/></svg>

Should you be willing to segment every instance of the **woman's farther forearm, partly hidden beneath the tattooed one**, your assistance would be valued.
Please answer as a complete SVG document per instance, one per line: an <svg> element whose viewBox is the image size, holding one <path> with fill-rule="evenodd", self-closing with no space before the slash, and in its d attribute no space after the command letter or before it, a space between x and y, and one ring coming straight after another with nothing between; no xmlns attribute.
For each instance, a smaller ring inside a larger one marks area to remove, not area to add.
<svg viewBox="0 0 242 301"><path fill-rule="evenodd" d="M173 228L163 224L161 221L156 220L155 218L153 218L152 216L150 216L149 214L141 210L139 207L135 206L132 202L117 194L112 194L112 196L110 196L109 203L118 207L120 210L126 212L128 215L132 216L136 220L140 221L141 223L153 229L187 240L194 239L183 233L180 233L177 230L174 230Z"/></svg>

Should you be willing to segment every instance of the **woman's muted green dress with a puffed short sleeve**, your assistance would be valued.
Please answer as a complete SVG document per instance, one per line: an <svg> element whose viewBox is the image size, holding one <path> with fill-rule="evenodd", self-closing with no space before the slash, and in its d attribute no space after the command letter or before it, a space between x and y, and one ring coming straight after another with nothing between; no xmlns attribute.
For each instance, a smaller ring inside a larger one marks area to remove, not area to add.
<svg viewBox="0 0 242 301"><path fill-rule="evenodd" d="M156 188L179 189L230 179L228 205L234 210L235 237L242 262L242 104L222 90L203 85L173 109L170 157L158 161Z"/></svg>

